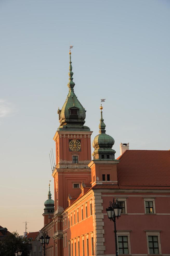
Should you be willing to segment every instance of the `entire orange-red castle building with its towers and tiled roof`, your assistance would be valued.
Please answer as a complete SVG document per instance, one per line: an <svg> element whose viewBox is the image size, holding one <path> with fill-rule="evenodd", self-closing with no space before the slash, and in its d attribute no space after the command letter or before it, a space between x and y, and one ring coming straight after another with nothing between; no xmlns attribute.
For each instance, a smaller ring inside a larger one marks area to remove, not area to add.
<svg viewBox="0 0 170 256"><path fill-rule="evenodd" d="M86 111L74 85L70 53L69 94L58 109L54 136L54 201L48 201L49 191L43 213L42 231L51 237L46 255L115 255L114 225L106 212L113 197L122 206L116 221L119 255L170 255L170 151L129 150L121 143L115 159L101 106L91 160L92 131L84 126Z"/></svg>

